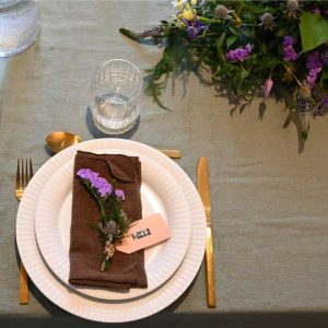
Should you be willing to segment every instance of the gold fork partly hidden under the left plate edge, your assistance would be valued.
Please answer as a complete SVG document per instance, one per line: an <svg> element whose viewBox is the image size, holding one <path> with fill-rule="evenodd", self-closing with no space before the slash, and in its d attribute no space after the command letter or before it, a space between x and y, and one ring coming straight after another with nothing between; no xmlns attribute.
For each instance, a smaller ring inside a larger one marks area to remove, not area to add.
<svg viewBox="0 0 328 328"><path fill-rule="evenodd" d="M22 199L25 188L30 180L33 177L33 166L32 160L25 160L25 168L24 168L24 160L17 160L17 173L16 173L16 198L19 200ZM20 267L20 304L28 303L28 286L27 286L27 273L21 261Z"/></svg>

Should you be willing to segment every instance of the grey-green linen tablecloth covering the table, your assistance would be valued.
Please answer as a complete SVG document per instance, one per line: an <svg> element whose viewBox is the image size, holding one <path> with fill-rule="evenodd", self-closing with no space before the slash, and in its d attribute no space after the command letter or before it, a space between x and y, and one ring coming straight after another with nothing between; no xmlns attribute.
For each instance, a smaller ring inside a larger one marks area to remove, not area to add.
<svg viewBox="0 0 328 328"><path fill-rule="evenodd" d="M17 303L16 159L31 156L35 169L40 167L50 157L45 137L54 130L84 140L106 137L87 110L94 70L113 58L151 68L162 50L133 43L118 28L143 31L174 12L166 0L42 1L40 9L37 43L0 59L2 319L70 317L33 283L28 305ZM311 121L300 152L296 127L283 128L283 102L267 101L262 113L262 99L255 98L241 113L192 74L186 81L168 79L162 101L171 110L144 96L140 122L124 138L180 149L177 163L194 183L198 159L208 156L218 290L218 307L207 308L202 265L188 291L163 313L326 313L327 118Z"/></svg>

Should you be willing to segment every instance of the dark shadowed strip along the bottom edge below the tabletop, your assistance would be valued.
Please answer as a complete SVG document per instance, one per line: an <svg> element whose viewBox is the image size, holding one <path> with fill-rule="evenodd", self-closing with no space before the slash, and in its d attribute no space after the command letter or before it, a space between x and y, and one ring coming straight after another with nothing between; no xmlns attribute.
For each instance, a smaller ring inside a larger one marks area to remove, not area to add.
<svg viewBox="0 0 328 328"><path fill-rule="evenodd" d="M169 328L312 328L327 327L328 313L235 313L235 314L168 314L161 313L148 319L129 324L99 324L83 320L72 316L56 316L47 318L5 317L0 316L1 328L96 328L96 327L169 327Z"/></svg>

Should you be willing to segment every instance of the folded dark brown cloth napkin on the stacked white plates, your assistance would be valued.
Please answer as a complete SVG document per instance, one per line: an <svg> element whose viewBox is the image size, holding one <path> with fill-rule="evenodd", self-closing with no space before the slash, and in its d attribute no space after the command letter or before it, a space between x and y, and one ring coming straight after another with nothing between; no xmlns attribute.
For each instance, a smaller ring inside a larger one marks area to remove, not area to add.
<svg viewBox="0 0 328 328"><path fill-rule="evenodd" d="M82 185L77 172L91 168L108 181L116 179L126 200L122 207L132 221L141 219L141 163L138 157L120 154L94 154L78 151L73 172L73 200L70 244L70 277L72 284L112 289L147 288L143 249L132 254L116 250L107 271L101 271L104 245L90 223L99 220L99 208Z"/></svg>

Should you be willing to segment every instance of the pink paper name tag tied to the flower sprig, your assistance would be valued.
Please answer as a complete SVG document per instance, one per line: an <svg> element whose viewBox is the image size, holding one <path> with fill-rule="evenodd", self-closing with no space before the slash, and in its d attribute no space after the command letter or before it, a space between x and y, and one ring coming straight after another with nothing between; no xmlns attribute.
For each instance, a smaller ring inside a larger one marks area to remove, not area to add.
<svg viewBox="0 0 328 328"><path fill-rule="evenodd" d="M127 254L153 246L171 237L168 226L161 214L136 221L129 229L128 235L121 243L115 245L116 249Z"/></svg>

